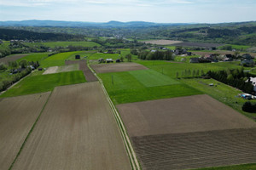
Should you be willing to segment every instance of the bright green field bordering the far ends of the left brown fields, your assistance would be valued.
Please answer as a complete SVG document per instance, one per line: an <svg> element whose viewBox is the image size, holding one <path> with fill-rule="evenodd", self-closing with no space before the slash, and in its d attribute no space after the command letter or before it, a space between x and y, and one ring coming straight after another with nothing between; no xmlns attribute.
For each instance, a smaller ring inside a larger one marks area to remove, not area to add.
<svg viewBox="0 0 256 170"><path fill-rule="evenodd" d="M61 72L48 75L28 76L0 97L37 94L52 91L56 86L86 82L83 71Z"/></svg>

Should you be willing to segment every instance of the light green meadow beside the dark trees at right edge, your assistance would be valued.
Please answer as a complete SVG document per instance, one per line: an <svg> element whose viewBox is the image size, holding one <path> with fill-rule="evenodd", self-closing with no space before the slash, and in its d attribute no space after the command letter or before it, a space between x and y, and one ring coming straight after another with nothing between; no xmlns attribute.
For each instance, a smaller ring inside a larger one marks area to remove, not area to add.
<svg viewBox="0 0 256 170"><path fill-rule="evenodd" d="M204 94L208 94L212 96L212 98L217 99L218 101L224 103L225 105L229 105L230 107L232 107L236 111L241 112L245 116L248 116L250 118L253 118L254 116L256 116L256 113L247 113L241 110L241 106L247 101L247 99L241 99L237 97L237 94L242 93L241 90L232 88L214 79L193 78L193 79L181 79L181 81L188 84L192 88L196 88L200 90ZM209 86L208 85L209 83L213 83L214 86L213 87Z"/></svg>

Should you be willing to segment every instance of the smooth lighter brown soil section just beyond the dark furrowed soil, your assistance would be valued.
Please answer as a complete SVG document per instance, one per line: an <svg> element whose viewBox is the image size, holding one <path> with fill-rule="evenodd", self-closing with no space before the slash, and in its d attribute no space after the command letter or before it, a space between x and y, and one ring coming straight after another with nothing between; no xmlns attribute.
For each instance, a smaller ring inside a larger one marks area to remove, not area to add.
<svg viewBox="0 0 256 170"><path fill-rule="evenodd" d="M130 136L256 127L256 123L210 96L158 99L117 105Z"/></svg>

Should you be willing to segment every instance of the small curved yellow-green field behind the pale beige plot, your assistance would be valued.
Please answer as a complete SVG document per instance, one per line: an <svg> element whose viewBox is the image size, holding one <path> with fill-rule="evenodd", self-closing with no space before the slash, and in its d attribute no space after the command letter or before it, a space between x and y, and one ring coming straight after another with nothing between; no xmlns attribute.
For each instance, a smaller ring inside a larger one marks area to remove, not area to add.
<svg viewBox="0 0 256 170"><path fill-rule="evenodd" d="M65 65L65 60L68 59L73 54L78 54L79 52L67 52L67 53L61 53L61 54L55 54L47 59L44 59L41 62L41 67L50 67L50 66L61 66Z"/></svg>

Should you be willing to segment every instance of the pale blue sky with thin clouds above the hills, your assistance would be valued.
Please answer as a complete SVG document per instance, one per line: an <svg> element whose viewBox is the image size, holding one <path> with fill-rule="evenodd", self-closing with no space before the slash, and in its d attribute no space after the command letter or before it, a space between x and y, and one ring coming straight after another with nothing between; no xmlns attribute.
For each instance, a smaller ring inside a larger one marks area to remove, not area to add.
<svg viewBox="0 0 256 170"><path fill-rule="evenodd" d="M256 20L256 0L0 0L0 20L239 22Z"/></svg>

